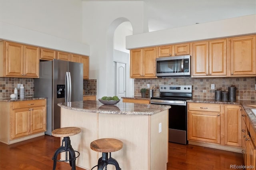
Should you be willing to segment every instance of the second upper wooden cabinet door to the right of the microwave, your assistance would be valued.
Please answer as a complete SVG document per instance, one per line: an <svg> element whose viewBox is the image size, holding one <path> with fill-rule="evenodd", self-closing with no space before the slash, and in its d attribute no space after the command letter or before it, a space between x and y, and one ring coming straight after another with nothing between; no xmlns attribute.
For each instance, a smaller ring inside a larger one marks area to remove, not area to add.
<svg viewBox="0 0 256 170"><path fill-rule="evenodd" d="M209 42L209 75L227 75L227 41Z"/></svg>

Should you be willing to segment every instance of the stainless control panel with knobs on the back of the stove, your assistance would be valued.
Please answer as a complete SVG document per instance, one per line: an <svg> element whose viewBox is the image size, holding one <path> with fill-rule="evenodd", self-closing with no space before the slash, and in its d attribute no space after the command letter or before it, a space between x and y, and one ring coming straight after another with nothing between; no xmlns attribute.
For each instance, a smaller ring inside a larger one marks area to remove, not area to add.
<svg viewBox="0 0 256 170"><path fill-rule="evenodd" d="M159 85L160 92L192 93L192 85Z"/></svg>

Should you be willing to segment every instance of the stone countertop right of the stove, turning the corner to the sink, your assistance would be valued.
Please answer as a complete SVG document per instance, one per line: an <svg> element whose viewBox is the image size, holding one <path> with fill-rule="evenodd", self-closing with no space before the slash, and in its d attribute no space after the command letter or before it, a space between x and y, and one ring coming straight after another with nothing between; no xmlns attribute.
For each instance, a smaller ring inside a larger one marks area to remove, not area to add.
<svg viewBox="0 0 256 170"><path fill-rule="evenodd" d="M187 102L242 105L242 107L246 111L246 114L247 114L250 122L252 123L252 126L253 126L254 130L256 131L256 116L252 113L252 110L251 110L251 109L256 109L256 101L236 100L234 102L230 102L230 101L215 101L214 99L193 98L191 100L187 100ZM249 106L249 105L255 105L255 107L252 107L252 106Z"/></svg>

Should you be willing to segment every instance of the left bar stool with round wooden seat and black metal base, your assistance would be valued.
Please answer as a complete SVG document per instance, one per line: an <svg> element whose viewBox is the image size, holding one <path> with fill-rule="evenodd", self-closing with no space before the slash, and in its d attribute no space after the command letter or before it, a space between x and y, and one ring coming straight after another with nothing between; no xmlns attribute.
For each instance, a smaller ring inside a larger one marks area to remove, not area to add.
<svg viewBox="0 0 256 170"><path fill-rule="evenodd" d="M81 129L78 127L57 128L52 131L52 136L63 137L62 146L60 146L55 151L55 154L52 157L53 170L55 170L55 168L56 168L56 162L67 162L67 161L69 161L70 166L72 166L72 170L76 170L76 158L80 155L80 153L72 148L72 146L70 144L69 136L73 136L80 132L81 132ZM66 152L65 160L57 160L57 156L61 152ZM69 152L69 158L68 158L68 152ZM78 156L76 156L76 152L78 153Z"/></svg>

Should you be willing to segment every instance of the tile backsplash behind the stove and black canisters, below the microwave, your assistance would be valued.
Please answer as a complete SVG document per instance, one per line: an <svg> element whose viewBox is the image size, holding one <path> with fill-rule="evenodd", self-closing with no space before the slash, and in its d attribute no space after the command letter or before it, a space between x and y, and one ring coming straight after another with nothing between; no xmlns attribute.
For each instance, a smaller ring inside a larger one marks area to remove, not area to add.
<svg viewBox="0 0 256 170"><path fill-rule="evenodd" d="M223 77L223 78L157 78L157 79L134 79L134 95L140 95L140 89L146 85L154 87L154 96L159 95L159 85L192 85L192 97L203 99L214 99L215 91L211 89L211 84L215 89L228 91L231 85L236 86L237 100L256 99L256 77Z"/></svg>

